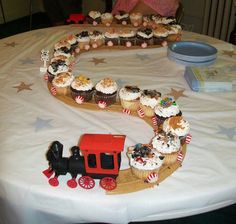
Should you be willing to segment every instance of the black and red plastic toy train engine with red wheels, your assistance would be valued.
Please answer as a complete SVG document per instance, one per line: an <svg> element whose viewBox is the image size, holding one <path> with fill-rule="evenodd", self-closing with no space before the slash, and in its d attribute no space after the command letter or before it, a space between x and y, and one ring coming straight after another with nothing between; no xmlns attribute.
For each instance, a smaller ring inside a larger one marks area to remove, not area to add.
<svg viewBox="0 0 236 224"><path fill-rule="evenodd" d="M79 146L71 148L71 156L63 157L63 145L54 141L46 158L49 168L43 173L49 178L51 186L58 186L58 176L71 174L67 185L77 187L77 175L81 174L78 184L84 189L95 186L94 179L100 179L100 186L105 190L116 188L116 177L121 164L121 152L124 149L125 135L84 134ZM54 176L52 177L52 175Z"/></svg>

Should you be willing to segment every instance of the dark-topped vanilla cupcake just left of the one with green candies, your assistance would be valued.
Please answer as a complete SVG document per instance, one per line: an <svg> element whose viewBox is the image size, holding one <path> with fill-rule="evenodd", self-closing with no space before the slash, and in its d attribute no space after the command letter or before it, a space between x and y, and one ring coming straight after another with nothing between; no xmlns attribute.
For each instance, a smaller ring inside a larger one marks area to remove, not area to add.
<svg viewBox="0 0 236 224"><path fill-rule="evenodd" d="M161 93L156 90L144 90L140 96L140 109L144 116L153 117L154 108L161 101Z"/></svg>

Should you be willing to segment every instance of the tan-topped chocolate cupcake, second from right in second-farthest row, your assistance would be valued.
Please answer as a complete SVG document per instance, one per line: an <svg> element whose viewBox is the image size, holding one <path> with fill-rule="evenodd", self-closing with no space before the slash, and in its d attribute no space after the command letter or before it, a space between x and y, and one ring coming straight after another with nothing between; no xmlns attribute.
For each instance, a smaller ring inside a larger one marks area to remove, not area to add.
<svg viewBox="0 0 236 224"><path fill-rule="evenodd" d="M166 25L157 24L153 30L153 44L160 45L167 40L169 29Z"/></svg>

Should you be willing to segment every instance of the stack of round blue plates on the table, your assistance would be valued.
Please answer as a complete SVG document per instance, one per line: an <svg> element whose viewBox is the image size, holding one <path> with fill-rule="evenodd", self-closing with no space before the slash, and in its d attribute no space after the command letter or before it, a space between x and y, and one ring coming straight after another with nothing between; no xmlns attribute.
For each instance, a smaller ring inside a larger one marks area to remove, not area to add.
<svg viewBox="0 0 236 224"><path fill-rule="evenodd" d="M207 66L215 62L217 49L197 41L179 41L168 46L167 57L185 66Z"/></svg>

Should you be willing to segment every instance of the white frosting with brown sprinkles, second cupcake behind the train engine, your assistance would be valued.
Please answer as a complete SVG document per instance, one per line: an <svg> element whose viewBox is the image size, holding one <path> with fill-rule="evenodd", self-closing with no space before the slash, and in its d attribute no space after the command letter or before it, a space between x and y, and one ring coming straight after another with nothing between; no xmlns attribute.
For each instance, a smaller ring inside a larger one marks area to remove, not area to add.
<svg viewBox="0 0 236 224"><path fill-rule="evenodd" d="M152 147L160 153L177 152L180 149L180 140L177 135L161 131L151 140Z"/></svg>

